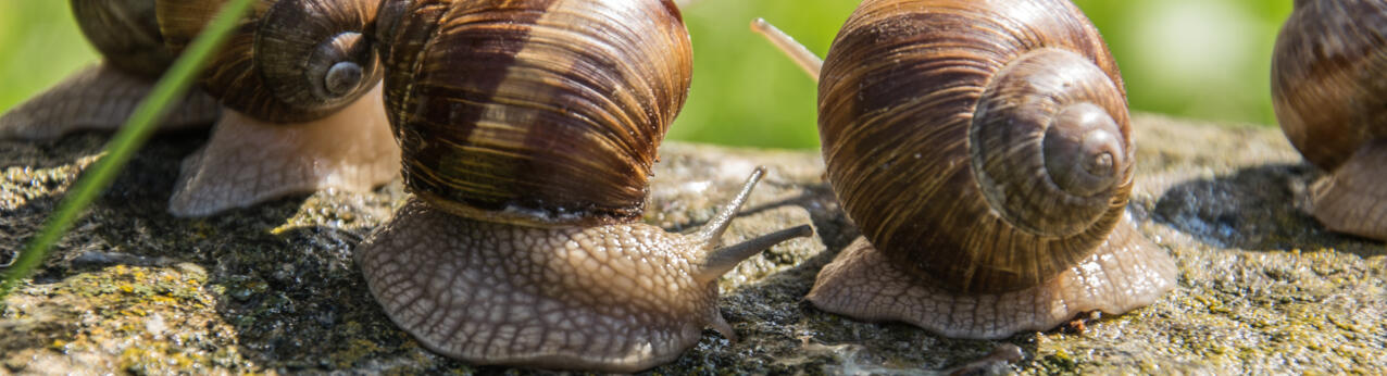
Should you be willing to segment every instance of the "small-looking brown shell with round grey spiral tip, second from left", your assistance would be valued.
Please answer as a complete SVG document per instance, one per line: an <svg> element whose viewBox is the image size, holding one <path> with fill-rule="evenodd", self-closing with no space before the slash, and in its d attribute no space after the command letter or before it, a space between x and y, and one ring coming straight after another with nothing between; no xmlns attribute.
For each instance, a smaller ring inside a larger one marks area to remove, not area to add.
<svg viewBox="0 0 1387 376"><path fill-rule="evenodd" d="M158 0L165 42L180 51L225 0ZM380 0L259 0L209 62L208 93L268 122L326 117L380 79L368 37Z"/></svg>

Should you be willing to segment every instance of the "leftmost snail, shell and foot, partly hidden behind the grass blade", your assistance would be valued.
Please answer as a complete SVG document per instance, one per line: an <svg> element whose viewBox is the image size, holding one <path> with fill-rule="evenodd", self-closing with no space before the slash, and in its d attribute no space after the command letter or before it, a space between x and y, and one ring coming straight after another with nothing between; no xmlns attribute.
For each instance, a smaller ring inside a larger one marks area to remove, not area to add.
<svg viewBox="0 0 1387 376"><path fill-rule="evenodd" d="M72 0L72 12L104 61L0 115L0 140L47 140L79 129L115 129L173 61L154 22L154 0ZM189 90L160 126L207 126L218 110L215 99Z"/></svg>

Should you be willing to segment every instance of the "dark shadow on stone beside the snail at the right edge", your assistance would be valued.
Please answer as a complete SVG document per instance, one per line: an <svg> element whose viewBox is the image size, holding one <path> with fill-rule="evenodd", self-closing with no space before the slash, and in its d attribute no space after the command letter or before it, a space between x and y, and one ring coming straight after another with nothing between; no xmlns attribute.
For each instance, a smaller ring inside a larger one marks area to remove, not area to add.
<svg viewBox="0 0 1387 376"><path fill-rule="evenodd" d="M1383 254L1380 243L1332 233L1301 210L1304 187L1320 173L1307 164L1280 164L1184 182L1157 200L1151 218L1219 248L1333 248L1361 257Z"/></svg>

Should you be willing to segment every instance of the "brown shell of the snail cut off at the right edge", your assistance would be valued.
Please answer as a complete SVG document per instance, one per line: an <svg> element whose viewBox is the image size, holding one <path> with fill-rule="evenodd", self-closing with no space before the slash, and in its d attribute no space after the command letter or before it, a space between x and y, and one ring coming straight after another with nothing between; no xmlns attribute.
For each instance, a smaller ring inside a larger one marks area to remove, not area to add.
<svg viewBox="0 0 1387 376"><path fill-rule="evenodd" d="M1333 171L1387 136L1387 1L1295 1L1272 60L1272 104L1305 160Z"/></svg>

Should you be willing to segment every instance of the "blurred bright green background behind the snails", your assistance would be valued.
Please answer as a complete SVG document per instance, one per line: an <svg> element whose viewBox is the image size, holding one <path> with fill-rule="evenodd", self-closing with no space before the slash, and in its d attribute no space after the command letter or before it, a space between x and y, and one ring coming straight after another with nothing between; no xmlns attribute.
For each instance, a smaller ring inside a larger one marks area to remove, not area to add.
<svg viewBox="0 0 1387 376"><path fill-rule="evenodd" d="M694 87L669 137L813 148L814 83L748 29L766 17L820 55L857 0L702 0L685 8ZM1272 125L1272 44L1290 0L1075 0L1136 111ZM0 111L97 60L68 1L0 0Z"/></svg>

